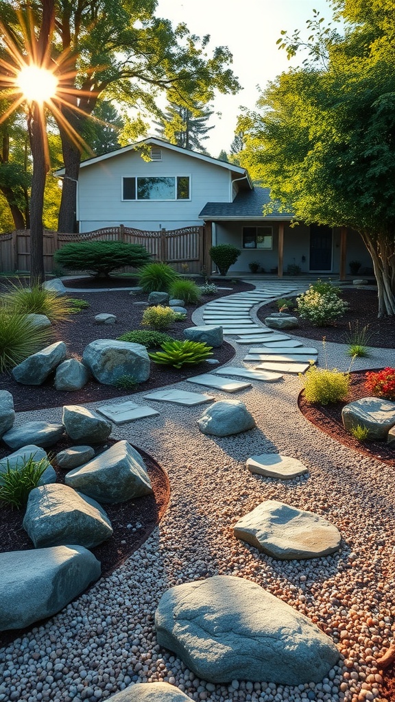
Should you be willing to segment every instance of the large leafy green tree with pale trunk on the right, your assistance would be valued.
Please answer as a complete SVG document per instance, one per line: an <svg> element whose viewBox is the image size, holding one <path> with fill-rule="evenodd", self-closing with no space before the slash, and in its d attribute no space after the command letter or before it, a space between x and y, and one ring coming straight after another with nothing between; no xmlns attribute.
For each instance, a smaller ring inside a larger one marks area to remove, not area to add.
<svg viewBox="0 0 395 702"><path fill-rule="evenodd" d="M379 315L395 314L393 3L339 0L344 36L311 21L309 60L281 74L239 119L242 165L306 223L350 227L373 260ZM299 33L281 38L292 54Z"/></svg>

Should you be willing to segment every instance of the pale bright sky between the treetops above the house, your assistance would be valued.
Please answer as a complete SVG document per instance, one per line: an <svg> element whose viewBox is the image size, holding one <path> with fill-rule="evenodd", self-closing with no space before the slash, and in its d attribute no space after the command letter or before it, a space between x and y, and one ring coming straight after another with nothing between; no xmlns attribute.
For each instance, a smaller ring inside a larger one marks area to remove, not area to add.
<svg viewBox="0 0 395 702"><path fill-rule="evenodd" d="M204 144L212 157L221 149L229 151L240 105L253 108L261 88L293 64L276 46L282 29L292 34L305 29L313 8L330 20L327 0L158 0L156 14L174 25L185 22L193 34L211 35L210 46L228 46L233 54L232 69L242 86L237 95L219 95L214 110L221 112L209 121L216 124Z"/></svg>

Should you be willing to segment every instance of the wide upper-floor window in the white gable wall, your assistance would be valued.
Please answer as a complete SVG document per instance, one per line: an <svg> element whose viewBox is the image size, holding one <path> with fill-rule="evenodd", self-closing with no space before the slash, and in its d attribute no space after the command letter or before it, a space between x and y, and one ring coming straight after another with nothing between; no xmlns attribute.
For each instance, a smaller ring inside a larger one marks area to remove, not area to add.
<svg viewBox="0 0 395 702"><path fill-rule="evenodd" d="M189 176L122 178L123 200L189 200Z"/></svg>

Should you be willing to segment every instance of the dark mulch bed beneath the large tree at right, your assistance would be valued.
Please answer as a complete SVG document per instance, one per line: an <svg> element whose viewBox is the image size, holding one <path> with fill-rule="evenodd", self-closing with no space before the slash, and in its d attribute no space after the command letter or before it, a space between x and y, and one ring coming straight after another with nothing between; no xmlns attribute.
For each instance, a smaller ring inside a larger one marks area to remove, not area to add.
<svg viewBox="0 0 395 702"><path fill-rule="evenodd" d="M371 338L370 346L380 348L394 348L395 346L395 317L383 317L377 319L377 291L365 289L343 289L342 299L350 303L348 312L343 319L328 326L313 326L305 319L299 319L299 327L295 329L298 336L306 336L309 339L322 341L323 337L327 341L346 343L345 339L349 333L349 324L356 321L359 327L369 326ZM263 322L265 317L278 310L276 303L264 305L258 312L258 317ZM293 312L292 312L293 314Z"/></svg>

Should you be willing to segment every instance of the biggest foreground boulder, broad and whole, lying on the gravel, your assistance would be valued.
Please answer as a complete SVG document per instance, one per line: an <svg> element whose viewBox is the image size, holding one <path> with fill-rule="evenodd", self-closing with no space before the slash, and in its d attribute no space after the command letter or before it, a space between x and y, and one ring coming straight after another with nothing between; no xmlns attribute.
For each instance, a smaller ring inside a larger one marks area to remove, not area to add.
<svg viewBox="0 0 395 702"><path fill-rule="evenodd" d="M214 683L320 682L339 659L335 644L304 614L233 576L167 590L155 626L160 646Z"/></svg>

